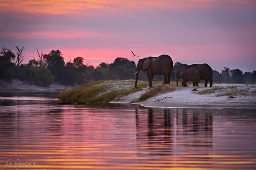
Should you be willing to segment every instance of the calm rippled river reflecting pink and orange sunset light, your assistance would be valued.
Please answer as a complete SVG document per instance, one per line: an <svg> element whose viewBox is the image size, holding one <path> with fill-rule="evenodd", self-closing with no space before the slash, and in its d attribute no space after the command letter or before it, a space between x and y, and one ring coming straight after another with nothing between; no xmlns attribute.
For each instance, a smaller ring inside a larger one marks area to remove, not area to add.
<svg viewBox="0 0 256 170"><path fill-rule="evenodd" d="M0 93L0 169L256 169L256 109L60 105L57 96Z"/></svg>

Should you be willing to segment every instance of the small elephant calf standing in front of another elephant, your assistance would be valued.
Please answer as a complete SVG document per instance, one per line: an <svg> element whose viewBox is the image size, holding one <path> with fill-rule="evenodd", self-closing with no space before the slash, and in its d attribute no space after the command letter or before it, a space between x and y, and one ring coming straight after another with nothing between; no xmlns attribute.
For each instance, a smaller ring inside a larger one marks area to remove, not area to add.
<svg viewBox="0 0 256 170"><path fill-rule="evenodd" d="M193 81L193 86L198 86L198 80L200 77L200 73L198 69L181 69L177 71L176 73L176 81L178 86L178 79L183 78L182 84L184 84L185 87L187 87L186 82L188 80Z"/></svg>

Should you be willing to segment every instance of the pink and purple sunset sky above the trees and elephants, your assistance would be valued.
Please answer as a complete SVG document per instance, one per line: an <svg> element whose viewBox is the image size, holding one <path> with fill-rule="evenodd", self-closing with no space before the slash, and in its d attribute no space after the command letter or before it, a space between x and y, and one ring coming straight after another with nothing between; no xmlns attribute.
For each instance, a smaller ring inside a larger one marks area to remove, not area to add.
<svg viewBox="0 0 256 170"><path fill-rule="evenodd" d="M24 46L23 63L38 48L94 66L166 54L256 70L256 0L0 0L0 9L0 46Z"/></svg>

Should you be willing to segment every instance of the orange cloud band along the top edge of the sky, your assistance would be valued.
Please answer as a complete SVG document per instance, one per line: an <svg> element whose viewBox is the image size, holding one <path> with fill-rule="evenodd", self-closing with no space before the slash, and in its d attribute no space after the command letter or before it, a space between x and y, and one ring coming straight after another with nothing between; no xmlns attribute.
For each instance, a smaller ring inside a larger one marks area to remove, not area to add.
<svg viewBox="0 0 256 170"><path fill-rule="evenodd" d="M125 9L181 9L216 3L252 3L254 0L0 0L2 12L36 14L95 14ZM96 12L97 13L97 12Z"/></svg>

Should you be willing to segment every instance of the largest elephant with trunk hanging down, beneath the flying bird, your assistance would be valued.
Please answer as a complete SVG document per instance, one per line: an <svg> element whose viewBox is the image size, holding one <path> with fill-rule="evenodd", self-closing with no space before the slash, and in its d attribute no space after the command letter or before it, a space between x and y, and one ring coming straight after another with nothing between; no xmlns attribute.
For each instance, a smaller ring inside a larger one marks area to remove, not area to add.
<svg viewBox="0 0 256 170"><path fill-rule="evenodd" d="M159 57L147 57L140 59L137 68L136 68L136 81L135 88L137 88L137 82L139 77L139 72L142 70L143 72L147 71L148 74L148 83L149 87L152 86L152 81L154 75L164 75L163 84L170 84L170 78L174 78L173 73L173 62L172 58L169 55L160 55Z"/></svg>

